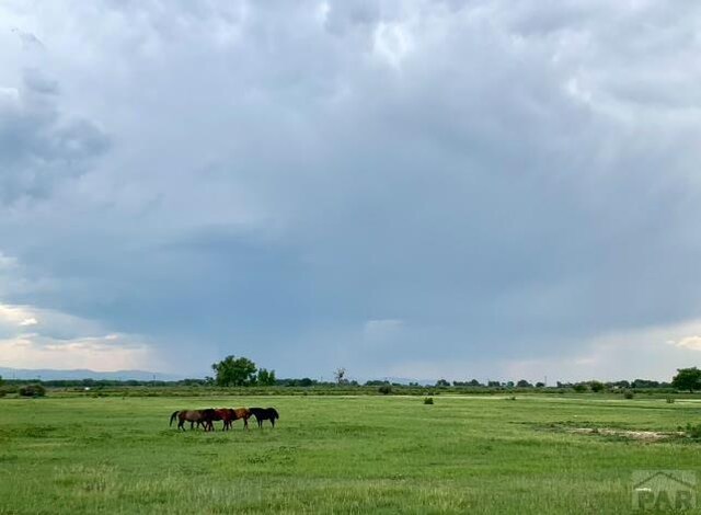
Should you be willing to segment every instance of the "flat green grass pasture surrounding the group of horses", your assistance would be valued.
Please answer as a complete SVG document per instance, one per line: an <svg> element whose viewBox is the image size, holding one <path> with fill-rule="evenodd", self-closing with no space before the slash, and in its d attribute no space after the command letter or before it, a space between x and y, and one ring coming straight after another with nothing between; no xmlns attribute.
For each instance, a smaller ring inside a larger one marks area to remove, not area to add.
<svg viewBox="0 0 701 515"><path fill-rule="evenodd" d="M274 405L279 425L168 425L238 405ZM701 422L691 400L49 397L0 413L0 514L629 513L632 471L701 466L689 438L572 431L673 432Z"/></svg>

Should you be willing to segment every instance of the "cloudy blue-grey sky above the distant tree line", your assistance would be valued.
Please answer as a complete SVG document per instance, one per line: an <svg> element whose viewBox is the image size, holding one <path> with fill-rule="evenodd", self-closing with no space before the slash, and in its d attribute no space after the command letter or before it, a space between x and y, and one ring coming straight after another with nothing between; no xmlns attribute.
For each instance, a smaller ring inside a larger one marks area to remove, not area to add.
<svg viewBox="0 0 701 515"><path fill-rule="evenodd" d="M0 3L0 366L701 357L701 4Z"/></svg>

